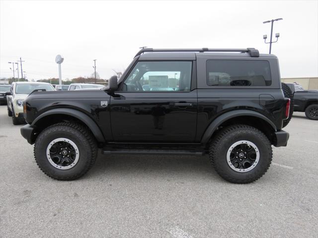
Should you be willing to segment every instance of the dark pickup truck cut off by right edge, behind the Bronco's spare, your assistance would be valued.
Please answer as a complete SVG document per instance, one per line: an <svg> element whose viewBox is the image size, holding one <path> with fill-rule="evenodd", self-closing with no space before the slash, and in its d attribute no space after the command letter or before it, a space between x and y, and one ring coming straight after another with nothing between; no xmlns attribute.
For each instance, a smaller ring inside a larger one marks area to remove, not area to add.
<svg viewBox="0 0 318 238"><path fill-rule="evenodd" d="M318 120L318 90L304 90L295 83L286 84L293 93L294 112L305 112L308 119Z"/></svg>

